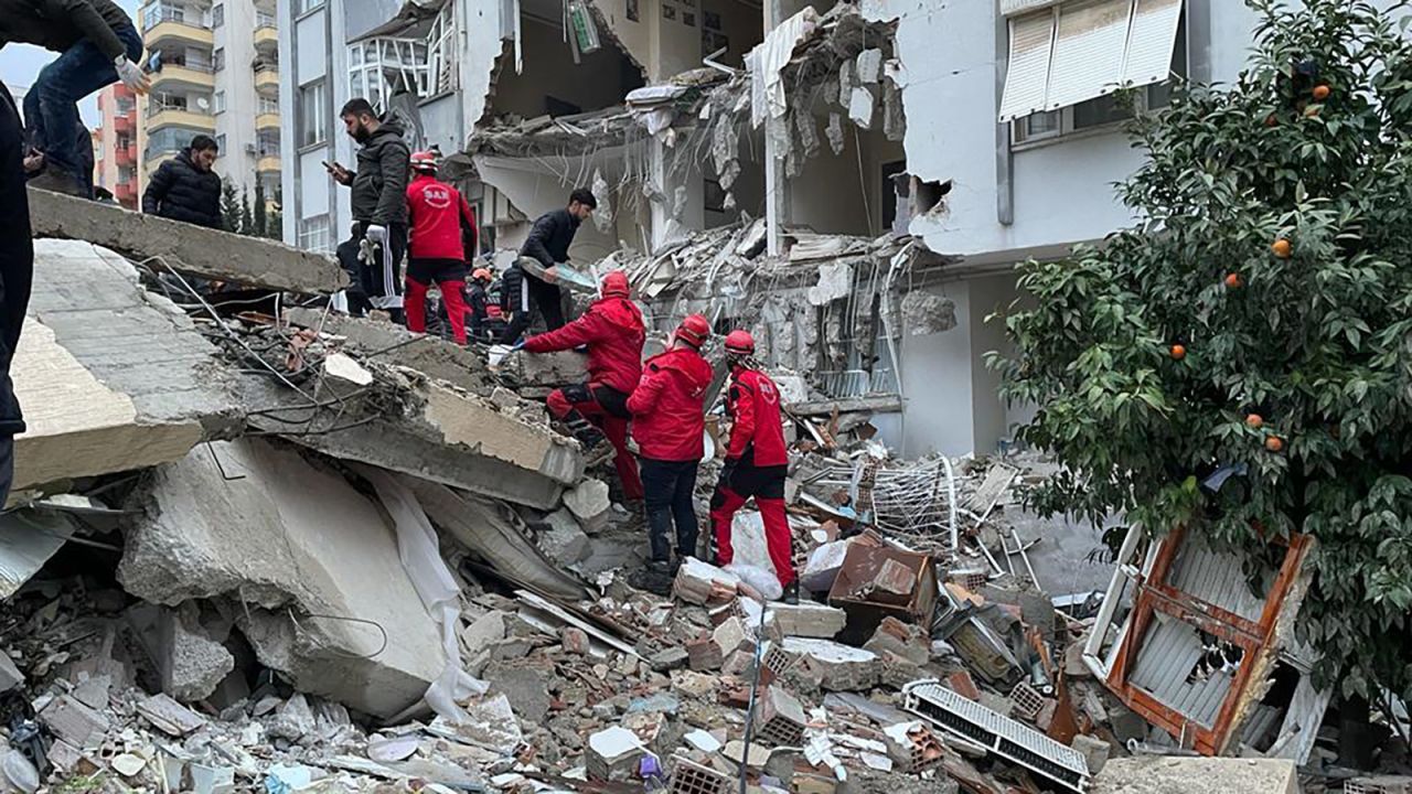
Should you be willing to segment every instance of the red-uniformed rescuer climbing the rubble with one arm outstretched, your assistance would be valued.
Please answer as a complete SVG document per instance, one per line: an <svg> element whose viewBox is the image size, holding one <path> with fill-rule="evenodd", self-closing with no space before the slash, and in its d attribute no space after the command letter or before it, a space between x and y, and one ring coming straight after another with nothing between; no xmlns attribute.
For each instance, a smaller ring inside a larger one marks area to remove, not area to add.
<svg viewBox="0 0 1412 794"><path fill-rule="evenodd" d="M623 497L642 499L642 480L637 461L627 449L628 396L642 377L642 342L647 326L642 312L628 300L627 275L614 270L603 277L603 297L579 319L563 328L531 336L522 342L531 353L589 348L589 380L549 393L549 413L569 427L586 449L603 437L613 445L613 465L623 480ZM602 431L602 435L600 435Z"/></svg>

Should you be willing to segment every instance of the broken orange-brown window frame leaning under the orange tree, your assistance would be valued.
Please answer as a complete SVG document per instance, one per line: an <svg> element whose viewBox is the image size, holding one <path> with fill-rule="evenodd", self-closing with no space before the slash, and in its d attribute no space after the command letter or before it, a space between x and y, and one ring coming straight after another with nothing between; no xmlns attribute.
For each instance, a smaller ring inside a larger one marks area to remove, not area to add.
<svg viewBox="0 0 1412 794"><path fill-rule="evenodd" d="M1295 535L1288 541L1271 541L1285 547L1286 551L1265 596L1260 620L1252 622L1168 583L1168 576L1172 574L1173 564L1187 535L1189 531L1180 527L1155 544L1145 555L1147 562L1142 572L1138 572L1127 561L1137 551L1142 530L1139 527L1128 530L1123 550L1118 552L1118 568L1108 585L1104 605L1099 612L1094 630L1084 643L1083 660L1108 689L1144 719L1179 737L1183 746L1190 746L1203 754L1221 754L1241 737L1244 729L1241 723L1252 704L1247 691L1252 685L1258 685L1257 672L1264 678L1282 657L1281 648L1276 647L1281 639L1278 636L1281 615L1286 598L1295 592L1305 559L1313 547L1313 538ZM1135 585L1132 610L1118 629L1108 653L1100 656L1103 640L1110 632L1114 613L1120 606L1118 593L1127 581ZM1210 728L1202 726L1175 708L1159 702L1128 680L1137 654L1142 648L1142 641L1156 622L1158 613L1236 644L1244 651L1240 667L1231 678L1230 689L1221 698L1221 705ZM1257 668L1260 670L1257 671Z"/></svg>

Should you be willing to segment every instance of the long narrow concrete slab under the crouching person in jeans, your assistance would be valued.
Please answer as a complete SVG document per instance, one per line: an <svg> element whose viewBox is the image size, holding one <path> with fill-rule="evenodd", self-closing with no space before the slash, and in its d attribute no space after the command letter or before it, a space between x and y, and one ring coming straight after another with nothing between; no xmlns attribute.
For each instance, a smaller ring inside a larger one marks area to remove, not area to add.
<svg viewBox="0 0 1412 794"><path fill-rule="evenodd" d="M88 240L202 278L305 294L347 284L326 254L32 188L30 226L35 237Z"/></svg>

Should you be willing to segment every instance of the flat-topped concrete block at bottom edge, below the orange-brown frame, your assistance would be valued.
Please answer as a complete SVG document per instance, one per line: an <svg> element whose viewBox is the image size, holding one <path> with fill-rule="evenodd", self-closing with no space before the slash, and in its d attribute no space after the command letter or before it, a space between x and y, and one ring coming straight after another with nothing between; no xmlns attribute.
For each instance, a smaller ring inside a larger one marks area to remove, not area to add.
<svg viewBox="0 0 1412 794"><path fill-rule="evenodd" d="M1093 778L1090 794L1299 794L1295 762L1148 756L1113 759Z"/></svg>

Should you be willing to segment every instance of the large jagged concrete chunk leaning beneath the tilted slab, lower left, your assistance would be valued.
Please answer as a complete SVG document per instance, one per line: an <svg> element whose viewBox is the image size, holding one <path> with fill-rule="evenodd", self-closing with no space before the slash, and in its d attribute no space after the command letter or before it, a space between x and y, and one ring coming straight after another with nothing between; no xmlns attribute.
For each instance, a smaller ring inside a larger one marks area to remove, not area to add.
<svg viewBox="0 0 1412 794"><path fill-rule="evenodd" d="M240 630L299 691L387 718L445 667L381 507L294 449L201 446L160 466L130 507L123 586L169 606L247 602L234 609Z"/></svg>

